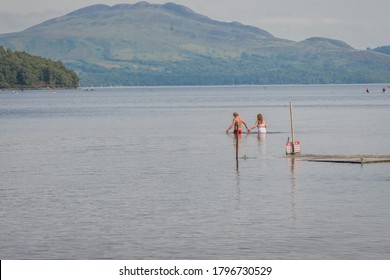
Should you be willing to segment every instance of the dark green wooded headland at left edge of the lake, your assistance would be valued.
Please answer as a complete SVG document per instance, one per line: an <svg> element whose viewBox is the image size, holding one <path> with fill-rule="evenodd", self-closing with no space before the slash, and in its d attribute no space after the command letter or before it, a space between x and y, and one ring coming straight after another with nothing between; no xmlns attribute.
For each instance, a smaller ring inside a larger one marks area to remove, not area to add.
<svg viewBox="0 0 390 280"><path fill-rule="evenodd" d="M61 61L0 46L0 89L76 88L79 78Z"/></svg>

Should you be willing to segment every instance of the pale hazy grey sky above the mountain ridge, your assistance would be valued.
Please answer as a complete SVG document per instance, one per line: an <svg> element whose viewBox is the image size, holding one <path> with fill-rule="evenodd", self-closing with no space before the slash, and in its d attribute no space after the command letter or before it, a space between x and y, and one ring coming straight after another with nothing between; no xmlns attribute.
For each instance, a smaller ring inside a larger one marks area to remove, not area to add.
<svg viewBox="0 0 390 280"><path fill-rule="evenodd" d="M93 4L129 0L0 0L0 33L21 31ZM390 45L389 0L150 0L182 4L215 20L238 21L280 38L343 40L358 49Z"/></svg>

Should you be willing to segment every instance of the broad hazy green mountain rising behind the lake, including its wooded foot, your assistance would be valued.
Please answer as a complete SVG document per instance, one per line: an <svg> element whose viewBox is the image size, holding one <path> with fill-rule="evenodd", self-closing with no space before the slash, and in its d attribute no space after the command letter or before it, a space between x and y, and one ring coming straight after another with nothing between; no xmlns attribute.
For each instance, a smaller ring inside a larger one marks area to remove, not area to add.
<svg viewBox="0 0 390 280"><path fill-rule="evenodd" d="M61 60L84 86L390 82L390 55L276 38L174 3L93 5L0 35L0 45Z"/></svg>

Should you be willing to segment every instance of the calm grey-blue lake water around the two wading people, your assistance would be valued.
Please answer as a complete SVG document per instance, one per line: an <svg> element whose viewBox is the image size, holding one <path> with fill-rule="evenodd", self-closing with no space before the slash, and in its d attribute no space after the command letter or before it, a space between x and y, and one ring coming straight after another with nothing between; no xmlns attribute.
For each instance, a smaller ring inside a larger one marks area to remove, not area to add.
<svg viewBox="0 0 390 280"><path fill-rule="evenodd" d="M390 163L285 156L290 101L302 153L389 155L369 87L2 91L0 259L390 259Z"/></svg>

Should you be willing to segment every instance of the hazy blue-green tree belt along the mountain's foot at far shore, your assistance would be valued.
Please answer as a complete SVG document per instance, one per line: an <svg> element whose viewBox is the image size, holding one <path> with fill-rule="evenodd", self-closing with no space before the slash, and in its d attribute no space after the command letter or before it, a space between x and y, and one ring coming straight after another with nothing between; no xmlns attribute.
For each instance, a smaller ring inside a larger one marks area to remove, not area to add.
<svg viewBox="0 0 390 280"><path fill-rule="evenodd" d="M87 63L68 67L77 69L81 86L373 83L387 82L390 71L390 66L384 64L370 69L353 61L336 65L316 57L299 61L287 55L262 57L246 53L230 59L132 62L139 67L104 68Z"/></svg>

